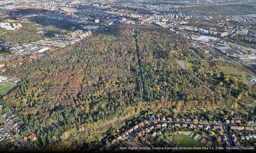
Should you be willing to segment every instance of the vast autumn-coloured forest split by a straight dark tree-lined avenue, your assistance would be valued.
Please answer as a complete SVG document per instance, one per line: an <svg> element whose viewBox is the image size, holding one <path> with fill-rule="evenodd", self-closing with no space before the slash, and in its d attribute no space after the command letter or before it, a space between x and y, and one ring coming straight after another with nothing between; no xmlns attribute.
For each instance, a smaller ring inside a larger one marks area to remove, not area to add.
<svg viewBox="0 0 256 153"><path fill-rule="evenodd" d="M68 139L69 133L140 110L211 109L256 97L255 89L220 73L218 66L225 63L193 60L202 53L168 29L108 28L5 73L22 81L0 104L27 125L24 137L35 133L31 143L37 149L88 148L83 138ZM193 60L195 66L181 69L179 60Z"/></svg>

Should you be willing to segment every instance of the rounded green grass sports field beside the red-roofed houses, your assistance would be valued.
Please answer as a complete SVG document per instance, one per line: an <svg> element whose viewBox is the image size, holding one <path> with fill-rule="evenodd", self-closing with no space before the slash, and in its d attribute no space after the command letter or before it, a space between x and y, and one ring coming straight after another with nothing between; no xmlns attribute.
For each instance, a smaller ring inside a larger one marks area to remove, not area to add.
<svg viewBox="0 0 256 153"><path fill-rule="evenodd" d="M203 144L196 142L186 135L176 135L174 142L180 147L204 147Z"/></svg>

